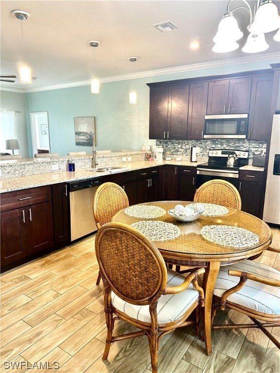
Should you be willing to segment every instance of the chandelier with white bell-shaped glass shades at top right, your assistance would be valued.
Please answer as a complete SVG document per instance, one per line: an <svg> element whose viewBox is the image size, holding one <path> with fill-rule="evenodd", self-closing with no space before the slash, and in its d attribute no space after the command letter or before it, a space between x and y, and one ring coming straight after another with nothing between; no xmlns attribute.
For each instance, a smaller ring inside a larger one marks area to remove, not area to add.
<svg viewBox="0 0 280 373"><path fill-rule="evenodd" d="M227 12L223 15L218 26L218 32L213 38L215 45L212 51L224 53L239 48L237 40L242 38L243 32L239 29L237 20L233 16L233 12L237 9L246 9L250 16L250 23L247 26L249 36L242 51L245 53L265 51L269 45L265 41L264 34L280 28L280 17L276 5L273 4L272 0L255 0L254 9L251 9L246 0L240 0L245 3L245 6L237 6L229 10L233 1L235 0L229 0L227 3ZM280 41L280 30L274 35L273 39Z"/></svg>

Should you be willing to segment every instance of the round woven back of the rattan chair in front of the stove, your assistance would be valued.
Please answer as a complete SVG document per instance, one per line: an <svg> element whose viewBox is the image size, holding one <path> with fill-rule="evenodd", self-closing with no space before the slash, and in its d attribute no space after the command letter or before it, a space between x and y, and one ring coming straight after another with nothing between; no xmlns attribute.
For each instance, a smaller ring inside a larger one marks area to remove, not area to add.
<svg viewBox="0 0 280 373"><path fill-rule="evenodd" d="M234 185L226 180L213 179L202 184L195 192L194 202L215 203L241 210L241 197Z"/></svg>

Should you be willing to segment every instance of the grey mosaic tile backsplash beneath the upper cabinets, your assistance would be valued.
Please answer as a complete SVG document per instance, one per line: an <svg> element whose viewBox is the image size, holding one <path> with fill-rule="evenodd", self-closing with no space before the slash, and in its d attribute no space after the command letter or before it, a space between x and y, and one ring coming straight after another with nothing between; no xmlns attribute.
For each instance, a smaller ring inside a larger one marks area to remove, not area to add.
<svg viewBox="0 0 280 373"><path fill-rule="evenodd" d="M266 152L266 141L235 140L235 139L206 139L206 140L157 140L157 146L163 148L163 152L171 152L172 155L191 157L192 146L200 148L200 157L208 157L210 149L236 149L249 152L249 159L254 155L263 155Z"/></svg>

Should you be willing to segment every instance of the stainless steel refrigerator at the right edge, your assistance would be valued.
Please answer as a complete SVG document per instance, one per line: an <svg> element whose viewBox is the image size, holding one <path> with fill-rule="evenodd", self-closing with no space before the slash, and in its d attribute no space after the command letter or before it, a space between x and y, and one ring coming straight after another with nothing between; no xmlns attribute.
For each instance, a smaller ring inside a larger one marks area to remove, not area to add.
<svg viewBox="0 0 280 373"><path fill-rule="evenodd" d="M273 116L262 220L280 224L280 114Z"/></svg>

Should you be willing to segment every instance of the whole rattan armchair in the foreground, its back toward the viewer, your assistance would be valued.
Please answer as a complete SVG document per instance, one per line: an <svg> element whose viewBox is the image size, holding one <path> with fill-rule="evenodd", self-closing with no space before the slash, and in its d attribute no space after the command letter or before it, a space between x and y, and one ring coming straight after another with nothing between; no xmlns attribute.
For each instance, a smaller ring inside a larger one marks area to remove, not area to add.
<svg viewBox="0 0 280 373"><path fill-rule="evenodd" d="M123 223L107 223L98 230L95 252L104 284L107 325L102 359L107 359L113 342L146 335L152 372L157 373L162 336L187 325L194 325L199 336L199 308L204 306L204 292L197 278L204 268L187 277L167 270L154 243ZM191 319L193 311L195 317ZM116 319L129 322L140 331L113 336Z"/></svg>

